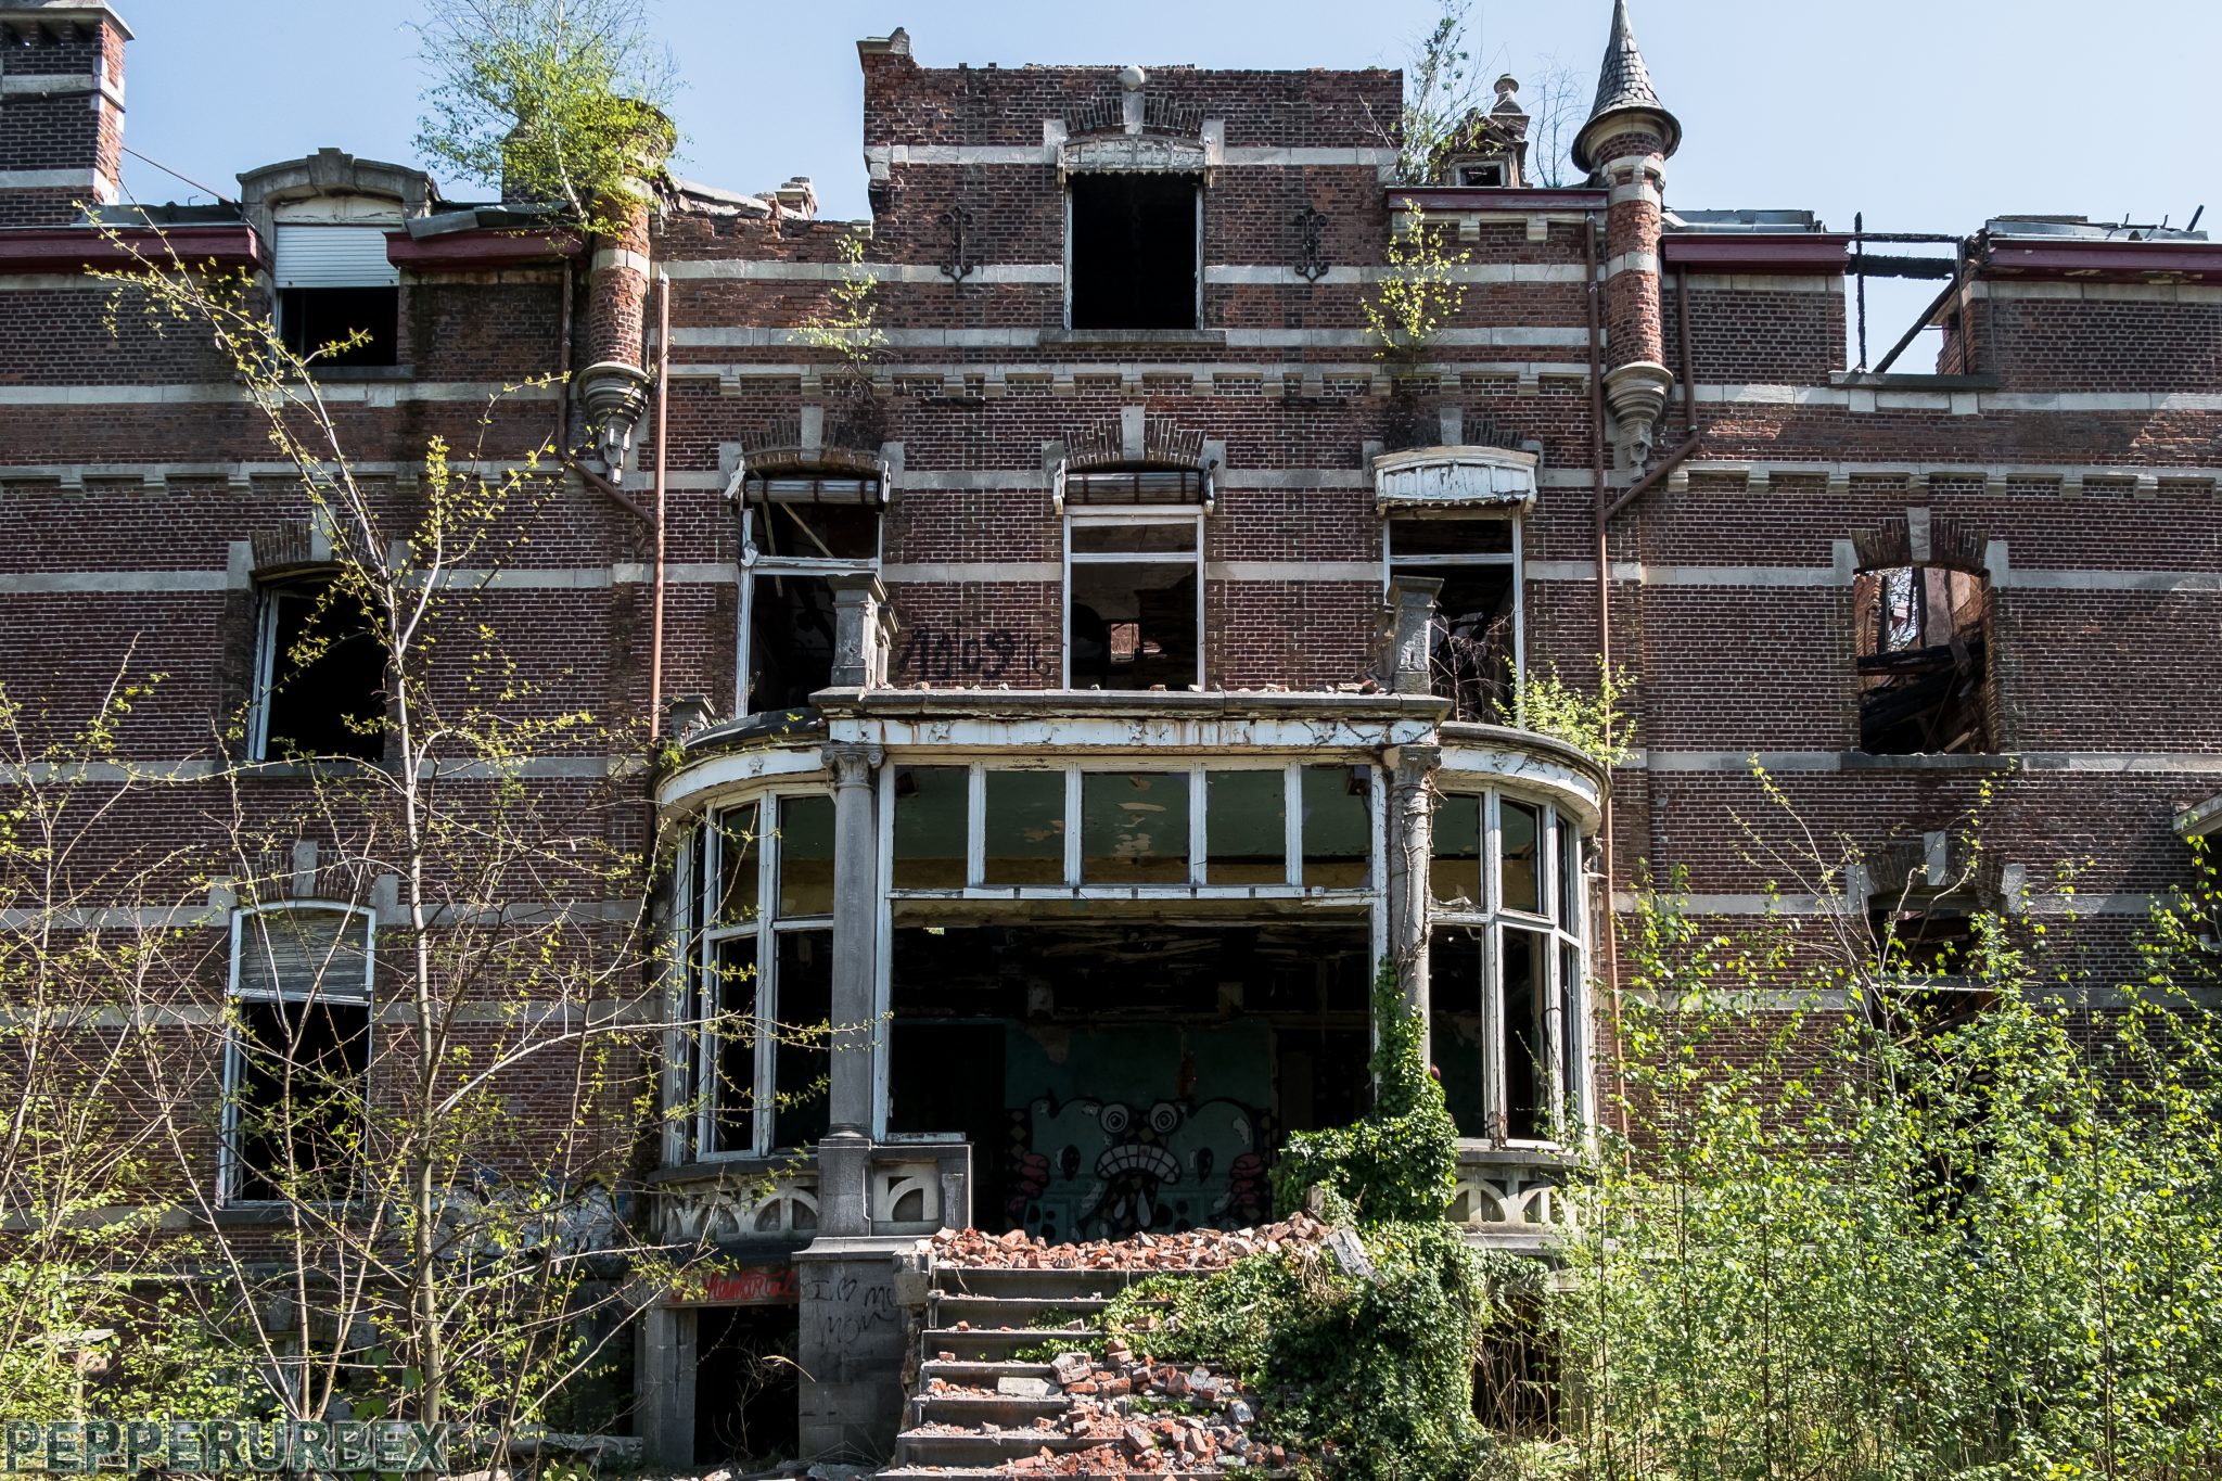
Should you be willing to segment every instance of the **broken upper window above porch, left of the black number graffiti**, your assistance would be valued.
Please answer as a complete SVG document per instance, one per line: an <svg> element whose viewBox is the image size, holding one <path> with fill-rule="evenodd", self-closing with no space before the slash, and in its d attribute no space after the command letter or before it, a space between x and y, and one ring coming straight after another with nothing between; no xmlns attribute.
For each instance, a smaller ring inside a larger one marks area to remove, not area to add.
<svg viewBox="0 0 2222 1481"><path fill-rule="evenodd" d="M835 575L880 568L878 477L742 480L740 713L793 711L833 684Z"/></svg>

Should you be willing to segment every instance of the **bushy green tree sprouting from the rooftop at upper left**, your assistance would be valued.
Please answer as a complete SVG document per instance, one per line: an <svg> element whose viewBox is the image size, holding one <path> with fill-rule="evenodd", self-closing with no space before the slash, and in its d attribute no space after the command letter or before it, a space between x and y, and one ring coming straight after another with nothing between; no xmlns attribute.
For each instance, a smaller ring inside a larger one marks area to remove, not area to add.
<svg viewBox="0 0 2222 1481"><path fill-rule="evenodd" d="M675 144L671 58L642 0L431 0L416 144L502 191L615 235L620 202Z"/></svg>

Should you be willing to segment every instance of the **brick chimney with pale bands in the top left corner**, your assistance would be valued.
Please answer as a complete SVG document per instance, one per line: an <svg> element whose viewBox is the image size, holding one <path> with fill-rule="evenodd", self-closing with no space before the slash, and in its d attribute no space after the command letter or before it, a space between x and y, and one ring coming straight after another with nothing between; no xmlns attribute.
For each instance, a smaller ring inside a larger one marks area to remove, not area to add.
<svg viewBox="0 0 2222 1481"><path fill-rule="evenodd" d="M118 198L127 40L104 0L0 0L0 226Z"/></svg>

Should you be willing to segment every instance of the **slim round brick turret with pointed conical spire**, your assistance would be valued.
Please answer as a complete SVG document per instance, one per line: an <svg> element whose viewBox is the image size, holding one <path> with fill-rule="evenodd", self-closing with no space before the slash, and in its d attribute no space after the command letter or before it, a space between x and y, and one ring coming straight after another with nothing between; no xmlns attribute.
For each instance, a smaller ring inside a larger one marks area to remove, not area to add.
<svg viewBox="0 0 2222 1481"><path fill-rule="evenodd" d="M1660 309L1660 218L1666 160L1682 124L1660 104L1635 49L1629 0L1613 2L1613 36L1598 73L1598 102L1573 138L1573 162L1611 191L1604 209L1604 402L1620 424L1620 460L1651 460L1666 409L1666 329Z"/></svg>

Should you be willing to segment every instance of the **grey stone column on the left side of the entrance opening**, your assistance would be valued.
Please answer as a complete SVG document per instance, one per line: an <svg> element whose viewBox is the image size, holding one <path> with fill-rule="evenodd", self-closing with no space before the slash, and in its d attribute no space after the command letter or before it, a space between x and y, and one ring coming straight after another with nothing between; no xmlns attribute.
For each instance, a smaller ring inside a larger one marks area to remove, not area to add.
<svg viewBox="0 0 2222 1481"><path fill-rule="evenodd" d="M818 1228L869 1235L871 1086L878 1041L880 848L871 779L878 746L829 744L833 770L833 1066L818 1144Z"/></svg>

